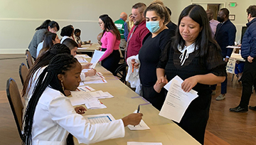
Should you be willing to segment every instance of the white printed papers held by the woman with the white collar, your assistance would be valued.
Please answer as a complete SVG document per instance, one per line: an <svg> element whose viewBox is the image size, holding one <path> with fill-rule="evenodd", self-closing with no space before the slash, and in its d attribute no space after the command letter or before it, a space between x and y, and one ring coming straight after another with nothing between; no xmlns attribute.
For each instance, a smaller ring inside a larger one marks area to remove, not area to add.
<svg viewBox="0 0 256 145"><path fill-rule="evenodd" d="M181 89L182 82L183 80L178 75L171 80L166 100L159 113L160 116L172 119L178 123L181 122L181 118L186 112L188 105L198 97L195 90L184 92Z"/></svg>

